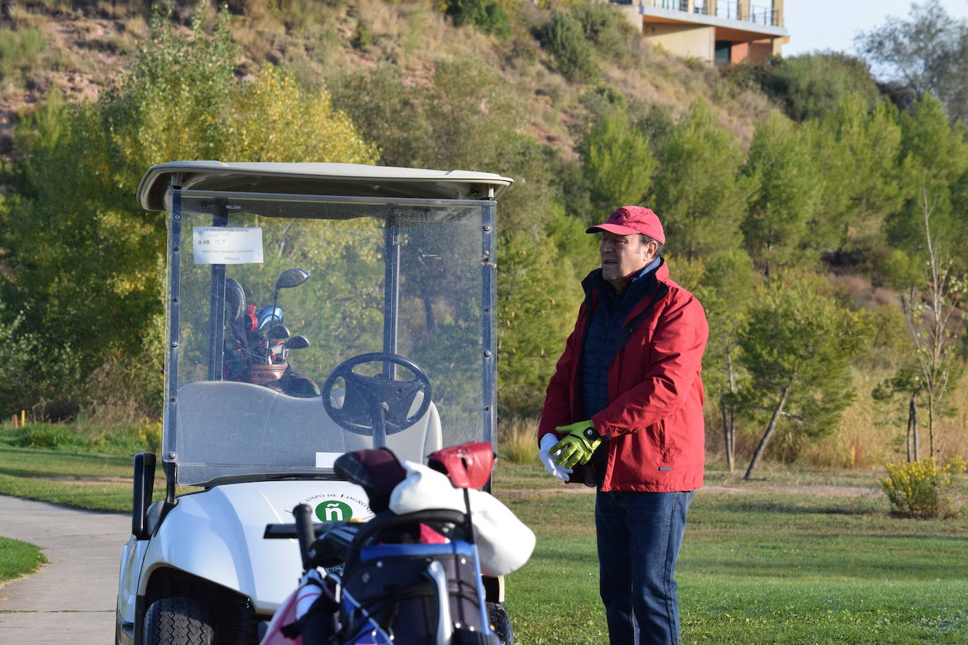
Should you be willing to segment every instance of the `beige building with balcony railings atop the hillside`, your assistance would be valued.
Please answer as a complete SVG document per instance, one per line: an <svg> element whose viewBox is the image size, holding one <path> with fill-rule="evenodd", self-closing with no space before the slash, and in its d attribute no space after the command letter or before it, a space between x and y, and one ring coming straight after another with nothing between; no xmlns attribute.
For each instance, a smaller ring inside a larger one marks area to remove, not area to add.
<svg viewBox="0 0 968 645"><path fill-rule="evenodd" d="M754 4L759 1L760 4ZM790 35L783 0L612 0L651 44L708 64L780 54ZM767 6L769 5L769 6Z"/></svg>

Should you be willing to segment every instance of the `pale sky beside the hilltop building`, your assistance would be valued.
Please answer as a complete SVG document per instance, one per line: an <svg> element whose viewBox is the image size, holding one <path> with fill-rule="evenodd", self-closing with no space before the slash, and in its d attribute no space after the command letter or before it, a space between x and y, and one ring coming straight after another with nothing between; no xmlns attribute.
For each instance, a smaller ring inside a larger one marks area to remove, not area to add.
<svg viewBox="0 0 968 645"><path fill-rule="evenodd" d="M752 5L769 6L769 0L752 0ZM921 4L921 3L920 3ZM968 0L941 0L949 15L968 18ZM790 42L784 56L796 56L817 49L857 53L854 36L884 24L888 15L907 19L911 0L785 0L784 22Z"/></svg>

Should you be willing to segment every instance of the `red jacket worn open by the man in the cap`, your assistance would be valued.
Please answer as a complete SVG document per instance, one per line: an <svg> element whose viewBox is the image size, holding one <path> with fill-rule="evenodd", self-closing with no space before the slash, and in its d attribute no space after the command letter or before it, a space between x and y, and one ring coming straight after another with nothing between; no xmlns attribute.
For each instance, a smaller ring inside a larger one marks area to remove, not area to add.
<svg viewBox="0 0 968 645"><path fill-rule="evenodd" d="M709 337L706 312L695 296L669 279L665 262L655 270L657 289L626 318L649 313L609 367L609 405L591 422L607 438L604 464L576 466L571 482L594 484L605 467L602 490L674 492L703 485L705 426L700 360ZM587 417L581 411L582 345L597 305L587 298L578 311L555 375L548 384L538 441L559 425ZM557 433L559 436L563 436Z"/></svg>

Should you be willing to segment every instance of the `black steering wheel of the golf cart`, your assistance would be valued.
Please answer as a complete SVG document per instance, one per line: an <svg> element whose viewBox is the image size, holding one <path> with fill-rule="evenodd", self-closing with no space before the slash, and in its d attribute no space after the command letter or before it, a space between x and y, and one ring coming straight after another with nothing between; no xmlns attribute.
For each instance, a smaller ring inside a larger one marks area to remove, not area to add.
<svg viewBox="0 0 968 645"><path fill-rule="evenodd" d="M363 376L353 371L353 367L367 363L389 363L406 367L413 373L414 378L398 381L382 375ZM347 384L343 407L340 408L334 407L330 398L338 378L342 378ZM423 400L420 408L408 415L414 398L421 392ZM426 414L430 401L431 385L427 372L413 361L387 352L354 356L333 368L322 384L322 404L329 418L350 432L368 436L384 433L389 435L406 430Z"/></svg>

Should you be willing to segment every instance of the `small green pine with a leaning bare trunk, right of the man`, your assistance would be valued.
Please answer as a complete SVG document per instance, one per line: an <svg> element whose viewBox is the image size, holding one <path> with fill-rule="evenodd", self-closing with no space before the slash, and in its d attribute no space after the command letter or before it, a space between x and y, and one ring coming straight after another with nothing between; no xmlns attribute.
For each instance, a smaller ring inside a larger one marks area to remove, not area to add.
<svg viewBox="0 0 968 645"><path fill-rule="evenodd" d="M747 481L778 425L823 436L853 399L850 366L869 341L868 316L838 304L822 280L772 279L741 331L741 364L750 374L744 403L770 414Z"/></svg>

